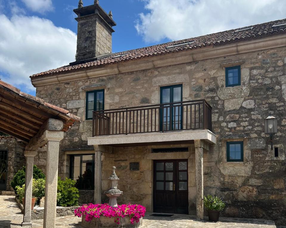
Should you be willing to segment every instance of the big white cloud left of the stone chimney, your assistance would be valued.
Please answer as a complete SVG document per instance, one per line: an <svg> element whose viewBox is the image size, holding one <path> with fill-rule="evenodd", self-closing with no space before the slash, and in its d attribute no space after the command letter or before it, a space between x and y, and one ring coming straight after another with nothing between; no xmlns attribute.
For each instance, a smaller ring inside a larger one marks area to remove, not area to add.
<svg viewBox="0 0 286 228"><path fill-rule="evenodd" d="M77 36L52 21L14 15L0 15L0 71L2 80L35 90L29 76L74 61ZM6 75L5 74L5 75Z"/></svg>

